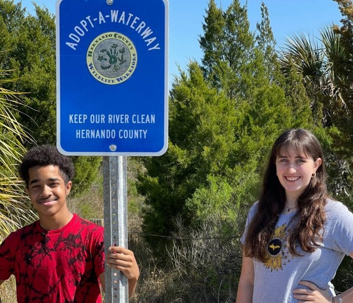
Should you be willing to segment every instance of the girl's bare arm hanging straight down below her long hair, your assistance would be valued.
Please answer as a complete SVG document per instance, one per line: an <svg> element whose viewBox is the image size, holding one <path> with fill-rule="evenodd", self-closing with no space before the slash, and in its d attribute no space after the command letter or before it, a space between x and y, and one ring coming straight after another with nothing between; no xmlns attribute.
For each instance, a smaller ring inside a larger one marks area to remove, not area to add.
<svg viewBox="0 0 353 303"><path fill-rule="evenodd" d="M241 264L241 274L238 284L236 301L238 303L252 303L254 291L254 262L253 258L243 255Z"/></svg>

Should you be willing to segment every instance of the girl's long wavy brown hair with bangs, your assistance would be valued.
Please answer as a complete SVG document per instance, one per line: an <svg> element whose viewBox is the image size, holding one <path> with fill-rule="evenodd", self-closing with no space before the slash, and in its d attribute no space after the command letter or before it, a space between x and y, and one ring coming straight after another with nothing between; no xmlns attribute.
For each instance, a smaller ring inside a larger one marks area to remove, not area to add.
<svg viewBox="0 0 353 303"><path fill-rule="evenodd" d="M314 161L321 158L322 164L311 178L309 185L298 198L298 211L294 215L293 228L287 237L291 254L299 256L296 243L305 252L313 252L317 241L322 239L320 230L325 223L326 204L326 171L323 152L319 141L309 131L291 129L281 134L274 142L263 178L263 187L258 201L257 211L252 218L245 236L244 254L265 262L267 244L271 239L279 215L283 212L286 202L285 189L276 175L276 157L279 152L289 154L295 151L300 155L312 157Z"/></svg>

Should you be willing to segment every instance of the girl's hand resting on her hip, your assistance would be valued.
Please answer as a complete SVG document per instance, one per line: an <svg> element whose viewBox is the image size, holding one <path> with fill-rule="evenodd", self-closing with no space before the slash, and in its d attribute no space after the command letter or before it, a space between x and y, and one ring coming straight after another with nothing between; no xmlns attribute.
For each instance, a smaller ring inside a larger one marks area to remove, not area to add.
<svg viewBox="0 0 353 303"><path fill-rule="evenodd" d="M322 290L314 283L309 281L300 281L300 285L304 285L309 289L293 289L294 297L301 303L318 302L318 303L331 303L332 297L327 290Z"/></svg>

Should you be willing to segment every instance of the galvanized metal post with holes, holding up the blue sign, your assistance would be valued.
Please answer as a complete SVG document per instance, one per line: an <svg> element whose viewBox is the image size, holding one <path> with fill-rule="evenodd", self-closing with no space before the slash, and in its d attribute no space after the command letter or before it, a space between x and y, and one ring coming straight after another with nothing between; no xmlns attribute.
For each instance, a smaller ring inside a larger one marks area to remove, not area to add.
<svg viewBox="0 0 353 303"><path fill-rule="evenodd" d="M127 248L126 157L103 157L104 246ZM128 302L128 279L121 271L105 265L105 302Z"/></svg>

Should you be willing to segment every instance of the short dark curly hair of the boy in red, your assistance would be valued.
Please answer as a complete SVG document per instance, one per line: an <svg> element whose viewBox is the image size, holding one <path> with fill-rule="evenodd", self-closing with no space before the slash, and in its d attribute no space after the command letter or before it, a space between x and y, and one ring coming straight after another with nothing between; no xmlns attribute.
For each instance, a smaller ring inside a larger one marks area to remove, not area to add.
<svg viewBox="0 0 353 303"><path fill-rule="evenodd" d="M59 167L60 174L67 184L72 180L75 173L73 161L60 154L56 147L52 145L41 145L32 147L23 156L22 162L19 165L19 173L21 178L25 181L28 188L29 173L28 170L33 166L48 166L55 165Z"/></svg>

